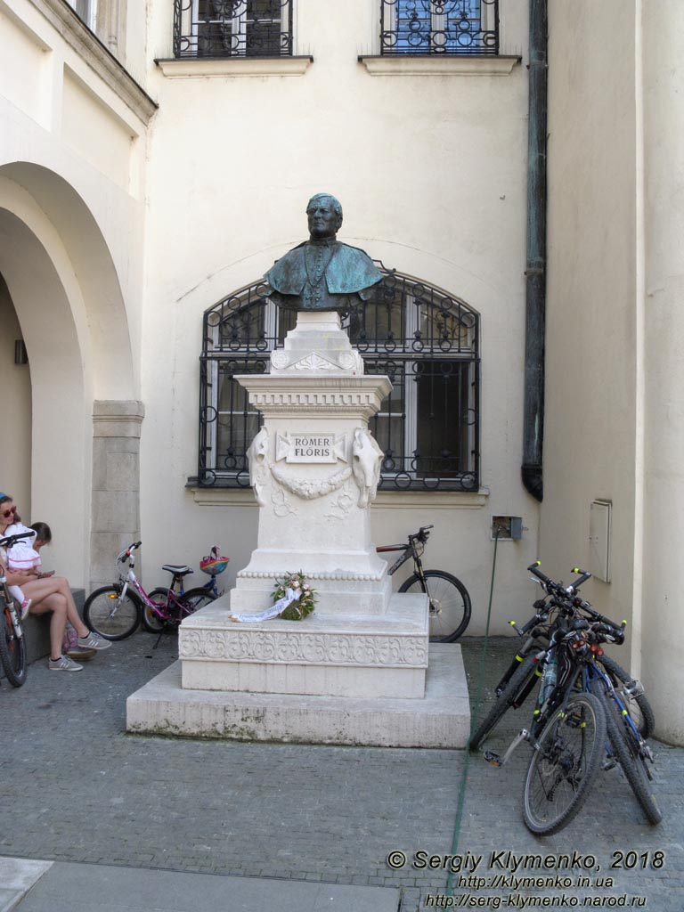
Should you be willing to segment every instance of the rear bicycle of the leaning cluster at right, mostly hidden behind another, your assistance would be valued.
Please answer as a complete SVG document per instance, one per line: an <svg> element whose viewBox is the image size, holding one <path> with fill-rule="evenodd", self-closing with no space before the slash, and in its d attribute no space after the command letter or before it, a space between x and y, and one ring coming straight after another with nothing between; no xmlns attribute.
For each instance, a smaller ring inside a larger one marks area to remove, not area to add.
<svg viewBox="0 0 684 912"><path fill-rule="evenodd" d="M591 574L575 567L573 573L580 574L580 577L570 586L565 586L544 575L539 570L538 561L527 569L535 575L534 582L544 588L546 595L534 602L534 616L522 628L518 627L515 621L510 621L511 627L518 636L525 637L524 643L516 651L511 664L506 668L503 677L494 689L497 699L487 716L473 732L470 741L471 750L477 750L503 719L505 713L511 709L520 709L534 690L543 672L537 654L548 646L557 624L558 615L563 612L564 605L568 605L566 610L570 617L575 610L574 603L576 606L582 604L588 606L588 603L580 602L577 590L587 579L591 578ZM597 657L597 660L606 671L611 686L617 690L621 700L629 706L630 716L635 721L638 731L644 739L649 738L655 729L656 722L640 682L631 678L627 671L609 656L601 655Z"/></svg>

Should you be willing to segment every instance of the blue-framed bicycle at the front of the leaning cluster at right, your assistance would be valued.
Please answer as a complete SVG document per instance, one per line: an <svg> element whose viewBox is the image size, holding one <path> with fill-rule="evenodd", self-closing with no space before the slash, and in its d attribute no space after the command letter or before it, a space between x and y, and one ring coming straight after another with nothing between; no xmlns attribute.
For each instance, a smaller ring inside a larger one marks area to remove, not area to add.
<svg viewBox="0 0 684 912"><path fill-rule="evenodd" d="M559 586L541 572L539 576L544 585ZM572 594L573 588L566 593ZM567 597L559 607L561 617L549 646L535 657L543 673L529 730L523 729L513 739L503 759L492 751L485 751L485 759L503 766L521 741L532 745L523 788L523 820L534 834L562 829L582 807L599 769L608 770L617 763L648 822L658 824L662 815L648 788L652 775L647 762L654 762L653 753L598 664L603 658L600 644L621 644L626 622L617 625L576 596Z"/></svg>

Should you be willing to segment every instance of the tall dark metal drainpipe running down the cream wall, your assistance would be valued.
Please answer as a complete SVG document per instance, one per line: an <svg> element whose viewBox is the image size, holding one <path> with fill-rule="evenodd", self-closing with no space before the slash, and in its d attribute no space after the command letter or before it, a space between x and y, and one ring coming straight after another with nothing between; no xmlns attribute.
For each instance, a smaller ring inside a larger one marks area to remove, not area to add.
<svg viewBox="0 0 684 912"><path fill-rule="evenodd" d="M529 126L527 142L527 268L525 269L525 387L523 484L544 497L544 327L546 308L547 0L530 0Z"/></svg>

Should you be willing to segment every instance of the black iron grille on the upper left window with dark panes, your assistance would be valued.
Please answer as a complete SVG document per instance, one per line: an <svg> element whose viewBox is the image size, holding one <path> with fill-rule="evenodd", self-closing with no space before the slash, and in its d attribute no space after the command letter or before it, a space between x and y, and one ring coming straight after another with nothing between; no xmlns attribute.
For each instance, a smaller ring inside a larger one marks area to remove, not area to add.
<svg viewBox="0 0 684 912"><path fill-rule="evenodd" d="M292 0L173 0L174 57L292 57Z"/></svg>

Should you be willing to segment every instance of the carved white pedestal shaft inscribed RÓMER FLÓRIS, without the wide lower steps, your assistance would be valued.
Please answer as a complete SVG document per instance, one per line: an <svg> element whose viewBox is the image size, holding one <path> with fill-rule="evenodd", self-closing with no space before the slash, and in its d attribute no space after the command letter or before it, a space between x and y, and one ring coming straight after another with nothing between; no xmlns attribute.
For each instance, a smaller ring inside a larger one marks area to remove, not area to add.
<svg viewBox="0 0 684 912"><path fill-rule="evenodd" d="M391 389L364 377L335 313L300 313L271 373L237 378L264 425L250 447L260 506L257 548L237 575L233 612L271 604L273 582L302 570L320 593L319 615L380 615L387 564L370 537L382 452L368 420Z"/></svg>

